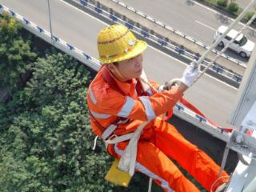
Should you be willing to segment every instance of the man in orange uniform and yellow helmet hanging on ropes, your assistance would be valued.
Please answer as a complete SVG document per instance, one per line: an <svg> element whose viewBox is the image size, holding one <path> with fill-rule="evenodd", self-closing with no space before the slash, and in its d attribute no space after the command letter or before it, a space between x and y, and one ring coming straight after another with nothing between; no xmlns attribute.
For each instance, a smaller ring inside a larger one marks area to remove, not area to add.
<svg viewBox="0 0 256 192"><path fill-rule="evenodd" d="M142 52L146 46L146 42L135 38L120 24L108 26L98 34L98 53L103 66L91 82L87 95L94 134L104 140L115 139L134 133L142 122L147 122L138 140L135 169L153 178L165 191L199 191L170 160L173 158L210 190L218 178L219 166L186 141L174 126L158 118L182 98L198 76L198 68L188 66L178 86L165 86L160 93L156 90L162 87L157 83L150 82L150 89L145 88L141 77ZM115 127L114 130L111 127ZM128 142L109 144L107 150L121 158ZM222 175L227 176L225 171ZM219 181L216 187L226 179ZM213 191L218 191L216 187Z"/></svg>

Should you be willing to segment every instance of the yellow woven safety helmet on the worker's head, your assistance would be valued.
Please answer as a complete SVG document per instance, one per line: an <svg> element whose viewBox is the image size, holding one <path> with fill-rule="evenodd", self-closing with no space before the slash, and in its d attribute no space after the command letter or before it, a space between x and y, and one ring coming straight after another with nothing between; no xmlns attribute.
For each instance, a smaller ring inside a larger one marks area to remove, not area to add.
<svg viewBox="0 0 256 192"><path fill-rule="evenodd" d="M114 24L98 34L98 54L102 63L121 62L146 50L147 44L135 38L126 26Z"/></svg>

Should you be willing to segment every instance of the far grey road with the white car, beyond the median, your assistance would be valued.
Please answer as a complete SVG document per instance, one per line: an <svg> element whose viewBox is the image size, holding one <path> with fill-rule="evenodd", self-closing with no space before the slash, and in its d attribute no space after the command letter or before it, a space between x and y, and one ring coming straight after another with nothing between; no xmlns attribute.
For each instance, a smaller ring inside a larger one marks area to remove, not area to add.
<svg viewBox="0 0 256 192"><path fill-rule="evenodd" d="M127 6L134 7L135 10L141 10L144 14L181 31L183 34L189 35L191 38L203 42L207 46L210 46L214 41L214 34L218 26L228 26L231 22L231 20L228 23L223 22L222 19L217 18L216 11L187 0L122 0L122 2ZM241 24L235 27L236 30L241 28ZM256 37L248 33L249 30L244 32L250 40L255 42ZM220 47L217 47L217 50L220 50ZM227 50L225 54L242 62L248 62L247 59L240 57L233 51Z"/></svg>

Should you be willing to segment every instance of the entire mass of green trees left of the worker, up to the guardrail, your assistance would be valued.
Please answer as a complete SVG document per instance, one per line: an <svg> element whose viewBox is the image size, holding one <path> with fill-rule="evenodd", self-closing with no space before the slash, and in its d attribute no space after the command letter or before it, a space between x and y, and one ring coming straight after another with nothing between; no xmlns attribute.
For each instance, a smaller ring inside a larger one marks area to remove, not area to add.
<svg viewBox="0 0 256 192"><path fill-rule="evenodd" d="M86 67L36 45L8 15L0 24L0 88L12 95L0 102L1 192L145 191L148 178L141 174L127 189L104 180L113 159L102 142L91 150Z"/></svg>

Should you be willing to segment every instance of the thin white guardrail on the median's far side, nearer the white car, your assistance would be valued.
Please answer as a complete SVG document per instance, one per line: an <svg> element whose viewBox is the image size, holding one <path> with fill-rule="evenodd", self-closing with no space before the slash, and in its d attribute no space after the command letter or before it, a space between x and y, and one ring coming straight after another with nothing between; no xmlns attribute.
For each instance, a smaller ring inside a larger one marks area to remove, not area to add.
<svg viewBox="0 0 256 192"><path fill-rule="evenodd" d="M180 37L182 38L186 38L187 40L189 40L190 42L194 42L195 44L197 44L198 46L202 46L203 48L205 48L206 50L209 49L209 46L206 46L204 43L199 42L198 40L191 38L190 36L183 34L182 32L178 31L178 30L174 30L174 28L170 27L170 26L166 26L166 24L159 22L157 20L155 20L154 18L142 13L140 10L135 10L133 7L131 6L127 6L125 3L123 2L119 2L118 0L111 0L112 2L117 3L120 6L125 7L127 10L131 10L136 14L139 14L140 16L142 16L143 18L146 18L148 20L150 20L151 22L156 23L158 26L162 26L163 28L166 28L167 30L170 30L171 32L173 32L174 34L178 34ZM213 50L214 54L218 54L218 50ZM246 68L246 66L242 63L239 62L238 60L234 59L234 58L230 58L229 56L226 56L226 54L221 54L221 56L223 58L226 58L227 60L230 60L231 62L234 62L236 64L238 64L239 66L242 66L243 68Z"/></svg>

